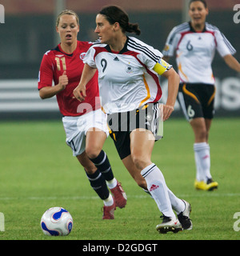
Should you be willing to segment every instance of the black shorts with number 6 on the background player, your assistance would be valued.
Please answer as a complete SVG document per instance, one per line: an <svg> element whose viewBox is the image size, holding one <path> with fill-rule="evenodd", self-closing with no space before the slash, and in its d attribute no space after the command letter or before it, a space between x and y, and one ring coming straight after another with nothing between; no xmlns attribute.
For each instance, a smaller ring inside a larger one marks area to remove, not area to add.
<svg viewBox="0 0 240 256"><path fill-rule="evenodd" d="M188 121L194 118L214 118L214 85L202 83L180 84L178 102Z"/></svg>

